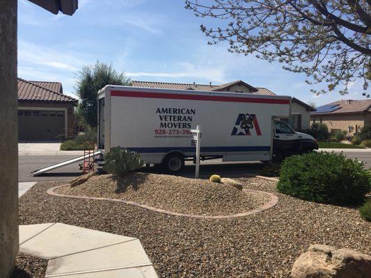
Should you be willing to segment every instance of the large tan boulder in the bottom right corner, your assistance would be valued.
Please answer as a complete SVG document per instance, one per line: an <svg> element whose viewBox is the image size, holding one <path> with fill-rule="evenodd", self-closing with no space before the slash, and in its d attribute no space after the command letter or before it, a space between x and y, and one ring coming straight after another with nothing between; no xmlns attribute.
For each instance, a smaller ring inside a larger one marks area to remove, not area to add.
<svg viewBox="0 0 371 278"><path fill-rule="evenodd" d="M371 278L371 256L329 245L311 245L292 267L293 278Z"/></svg>

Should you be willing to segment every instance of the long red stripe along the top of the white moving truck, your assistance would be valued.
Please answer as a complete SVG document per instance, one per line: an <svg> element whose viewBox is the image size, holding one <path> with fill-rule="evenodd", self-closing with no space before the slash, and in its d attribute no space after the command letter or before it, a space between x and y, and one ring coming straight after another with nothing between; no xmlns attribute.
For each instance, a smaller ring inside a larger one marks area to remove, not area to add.
<svg viewBox="0 0 371 278"><path fill-rule="evenodd" d="M211 95L181 95L162 92L111 91L112 97L145 97L149 99L187 99L204 101L252 102L255 104L290 104L290 99L262 99L258 97L224 97Z"/></svg>

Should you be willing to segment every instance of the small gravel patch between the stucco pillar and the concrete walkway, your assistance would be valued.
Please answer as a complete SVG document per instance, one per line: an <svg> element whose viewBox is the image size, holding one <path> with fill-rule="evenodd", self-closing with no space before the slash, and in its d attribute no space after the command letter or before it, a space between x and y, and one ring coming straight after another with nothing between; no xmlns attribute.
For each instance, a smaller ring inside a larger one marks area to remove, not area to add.
<svg viewBox="0 0 371 278"><path fill-rule="evenodd" d="M15 258L15 265L15 270L10 278L45 277L47 270L47 260L20 252Z"/></svg>

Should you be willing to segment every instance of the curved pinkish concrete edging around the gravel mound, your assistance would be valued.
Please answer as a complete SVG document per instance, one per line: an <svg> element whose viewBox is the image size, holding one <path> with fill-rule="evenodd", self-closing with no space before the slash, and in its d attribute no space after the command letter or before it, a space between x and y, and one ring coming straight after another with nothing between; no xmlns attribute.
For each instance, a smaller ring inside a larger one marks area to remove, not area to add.
<svg viewBox="0 0 371 278"><path fill-rule="evenodd" d="M49 188L47 190L47 193L49 195L57 196L57 197L68 197L68 198L74 198L74 199L93 199L93 200L104 200L104 201L110 201L110 202L120 202L124 204L132 204L133 206L139 206L141 208L149 209L150 211L157 211L159 213L166 213L169 215L175 215L175 216L184 216L189 218L201 218L201 219L226 219L226 218L237 218L247 215L252 215L255 213L260 213L262 211L266 211L268 208L271 208L273 206L276 206L278 203L278 197L272 193L268 193L265 191L259 191L259 190L252 190L252 189L244 189L245 191L250 191L253 193L264 193L266 195L269 195L271 197L271 200L264 204L263 206L260 206L259 208L255 208L252 211L246 211L244 213L235 213L235 214L228 214L228 215L196 215L196 214L186 214L186 213L176 213L174 211L166 211L164 209L155 208L153 206L147 206L145 204L139 204L132 201L126 201L124 199L111 199L111 198L104 198L104 197L87 197L87 196L74 196L74 195L63 195L59 193L55 193L54 190L56 188L61 188L63 186L69 186L69 185L62 185L62 186L54 186L52 188Z"/></svg>

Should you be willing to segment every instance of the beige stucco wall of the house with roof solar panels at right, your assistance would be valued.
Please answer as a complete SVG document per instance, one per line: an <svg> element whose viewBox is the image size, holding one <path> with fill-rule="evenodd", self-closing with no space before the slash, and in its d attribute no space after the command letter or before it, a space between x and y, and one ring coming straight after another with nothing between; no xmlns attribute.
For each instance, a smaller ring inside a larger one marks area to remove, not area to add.
<svg viewBox="0 0 371 278"><path fill-rule="evenodd" d="M371 120L370 115L368 118ZM363 114L340 114L340 115L312 115L310 117L310 122L321 122L326 124L331 129L341 129L342 131L348 131L348 126L354 126L354 131L350 133L351 135L356 131L359 131L365 124L365 116ZM357 128L356 128L357 126Z"/></svg>

